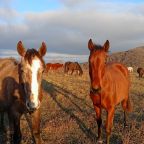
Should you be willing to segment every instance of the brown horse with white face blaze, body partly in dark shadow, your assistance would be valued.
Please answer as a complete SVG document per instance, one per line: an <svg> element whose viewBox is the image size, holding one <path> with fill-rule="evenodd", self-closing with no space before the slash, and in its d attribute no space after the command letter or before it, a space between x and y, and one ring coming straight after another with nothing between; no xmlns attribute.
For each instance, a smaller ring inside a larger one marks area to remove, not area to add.
<svg viewBox="0 0 144 144"><path fill-rule="evenodd" d="M0 60L0 111L8 114L11 143L20 144L20 119L22 114L30 113L35 143L41 144L41 81L45 68L43 56L46 54L46 45L43 42L39 51L26 50L19 41L17 51L21 56L20 62L15 59Z"/></svg>

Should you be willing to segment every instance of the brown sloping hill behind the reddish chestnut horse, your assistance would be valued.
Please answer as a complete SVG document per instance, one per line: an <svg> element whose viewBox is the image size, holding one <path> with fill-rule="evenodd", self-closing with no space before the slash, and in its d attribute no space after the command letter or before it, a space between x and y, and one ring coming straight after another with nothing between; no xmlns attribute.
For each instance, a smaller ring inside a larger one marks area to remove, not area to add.
<svg viewBox="0 0 144 144"><path fill-rule="evenodd" d="M144 46L112 53L109 55L108 61L121 62L126 66L134 67L134 69L137 69L137 67L144 68ZM85 68L88 67L88 63L84 63L83 65Z"/></svg>

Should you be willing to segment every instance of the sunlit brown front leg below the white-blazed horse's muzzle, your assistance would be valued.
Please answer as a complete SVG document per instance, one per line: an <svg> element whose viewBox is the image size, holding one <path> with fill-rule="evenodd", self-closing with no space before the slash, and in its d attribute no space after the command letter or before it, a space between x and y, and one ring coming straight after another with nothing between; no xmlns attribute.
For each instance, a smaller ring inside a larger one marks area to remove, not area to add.
<svg viewBox="0 0 144 144"><path fill-rule="evenodd" d="M41 135L40 135L40 109L36 110L31 114L32 117L32 132L36 144L41 144Z"/></svg>

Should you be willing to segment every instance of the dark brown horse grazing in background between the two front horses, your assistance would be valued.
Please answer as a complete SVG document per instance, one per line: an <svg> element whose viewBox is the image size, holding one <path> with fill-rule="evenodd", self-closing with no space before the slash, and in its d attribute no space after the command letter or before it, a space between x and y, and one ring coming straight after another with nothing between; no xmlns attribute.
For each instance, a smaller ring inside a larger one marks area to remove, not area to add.
<svg viewBox="0 0 144 144"><path fill-rule="evenodd" d="M83 70L78 62L65 62L64 73L68 74L71 72L72 75L74 71L76 71L79 75L83 74Z"/></svg>

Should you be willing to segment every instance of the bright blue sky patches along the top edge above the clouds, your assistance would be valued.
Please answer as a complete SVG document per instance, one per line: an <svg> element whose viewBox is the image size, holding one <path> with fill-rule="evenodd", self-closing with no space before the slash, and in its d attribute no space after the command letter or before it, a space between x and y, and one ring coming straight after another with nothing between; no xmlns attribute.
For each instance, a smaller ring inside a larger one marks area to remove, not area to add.
<svg viewBox="0 0 144 144"><path fill-rule="evenodd" d="M65 0L66 1L66 0ZM68 0L69 1L69 0ZM71 0L72 1L72 0ZM101 2L101 0L90 0L94 3ZM89 1L89 2L90 2ZM115 3L115 4L138 4L143 3L143 0L103 0L102 3ZM47 11L47 10L55 10L60 9L65 5L65 3L62 3L62 0L13 0L11 1L10 5L12 8L18 10L19 12L41 12L41 11ZM8 6L8 4L7 4Z"/></svg>

